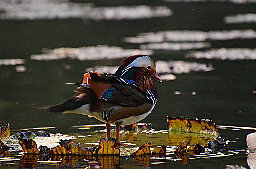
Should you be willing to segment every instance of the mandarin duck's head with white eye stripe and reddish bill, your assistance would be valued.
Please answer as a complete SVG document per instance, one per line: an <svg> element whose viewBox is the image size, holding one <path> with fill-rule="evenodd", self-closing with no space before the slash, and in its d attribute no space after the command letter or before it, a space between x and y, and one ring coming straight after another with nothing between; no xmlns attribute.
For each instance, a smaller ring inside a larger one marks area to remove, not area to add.
<svg viewBox="0 0 256 169"><path fill-rule="evenodd" d="M155 61L151 56L133 55L122 60L115 75L132 80L141 78L137 76L150 76L150 78L162 82L162 79L156 74L155 69Z"/></svg>

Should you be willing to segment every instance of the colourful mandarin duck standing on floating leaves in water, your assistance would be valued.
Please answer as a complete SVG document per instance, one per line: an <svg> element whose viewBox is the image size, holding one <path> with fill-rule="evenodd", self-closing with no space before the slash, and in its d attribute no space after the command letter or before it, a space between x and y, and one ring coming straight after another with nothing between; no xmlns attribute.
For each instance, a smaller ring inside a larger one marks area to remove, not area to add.
<svg viewBox="0 0 256 169"><path fill-rule="evenodd" d="M107 138L110 124L116 125L117 144L120 125L130 125L147 117L157 101L152 79L162 81L155 71L153 58L129 56L121 61L115 74L85 73L75 95L68 101L47 108L48 112L80 113L105 122ZM74 84L74 83L69 83Z"/></svg>

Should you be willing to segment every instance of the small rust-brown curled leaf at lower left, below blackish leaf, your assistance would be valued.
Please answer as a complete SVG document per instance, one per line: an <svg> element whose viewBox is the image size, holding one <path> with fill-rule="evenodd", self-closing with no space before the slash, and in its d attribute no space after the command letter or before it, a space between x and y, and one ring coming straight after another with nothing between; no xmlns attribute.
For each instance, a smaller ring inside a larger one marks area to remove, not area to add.
<svg viewBox="0 0 256 169"><path fill-rule="evenodd" d="M28 154L40 154L35 141L32 139L19 139L19 145Z"/></svg>

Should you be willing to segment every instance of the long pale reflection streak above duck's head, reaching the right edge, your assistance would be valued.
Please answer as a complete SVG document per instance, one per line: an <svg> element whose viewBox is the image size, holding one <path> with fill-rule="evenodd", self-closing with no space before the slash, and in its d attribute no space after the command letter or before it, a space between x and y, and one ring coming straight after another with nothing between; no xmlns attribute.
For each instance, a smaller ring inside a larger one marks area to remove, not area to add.
<svg viewBox="0 0 256 169"><path fill-rule="evenodd" d="M199 30L168 30L159 32L139 33L136 37L126 37L127 43L149 42L200 42L231 39L255 39L256 31L247 30L222 30L222 31L199 31Z"/></svg>

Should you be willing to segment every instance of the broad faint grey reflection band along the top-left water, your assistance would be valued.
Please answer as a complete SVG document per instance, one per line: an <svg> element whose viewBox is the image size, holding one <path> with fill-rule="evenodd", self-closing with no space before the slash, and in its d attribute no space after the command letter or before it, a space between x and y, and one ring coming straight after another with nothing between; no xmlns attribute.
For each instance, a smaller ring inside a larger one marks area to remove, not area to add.
<svg viewBox="0 0 256 169"><path fill-rule="evenodd" d="M0 19L66 19L94 20L143 19L170 16L166 6L147 5L96 7L92 3L70 0L1 0Z"/></svg>

